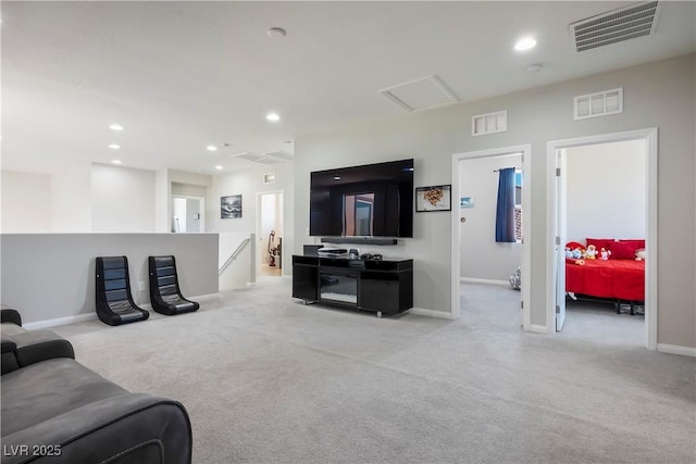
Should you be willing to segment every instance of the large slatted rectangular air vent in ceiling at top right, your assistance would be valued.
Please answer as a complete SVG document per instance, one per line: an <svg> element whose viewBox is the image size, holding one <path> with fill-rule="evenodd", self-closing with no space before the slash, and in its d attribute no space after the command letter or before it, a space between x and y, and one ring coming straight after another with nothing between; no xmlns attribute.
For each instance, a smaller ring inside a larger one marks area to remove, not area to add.
<svg viewBox="0 0 696 464"><path fill-rule="evenodd" d="M660 2L649 1L572 23L570 32L575 41L575 50L592 50L648 36L655 32L659 11Z"/></svg>

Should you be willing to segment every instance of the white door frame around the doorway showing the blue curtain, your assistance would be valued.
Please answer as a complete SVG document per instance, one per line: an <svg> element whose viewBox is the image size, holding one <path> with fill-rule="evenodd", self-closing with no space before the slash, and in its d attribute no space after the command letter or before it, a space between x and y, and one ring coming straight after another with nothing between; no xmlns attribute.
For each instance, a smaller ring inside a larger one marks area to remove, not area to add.
<svg viewBox="0 0 696 464"><path fill-rule="evenodd" d="M520 263L521 273L522 273L522 284L521 284L521 306L522 306L522 328L524 330L534 330L532 327L532 309L531 309L531 275L532 275L532 262L531 262L531 244L532 244L532 146L530 143L526 145L518 145L511 147L500 147L493 148L486 150L477 150L477 151L468 151L462 153L452 154L452 214L451 214L451 311L450 317L456 319L459 317L461 308L459 305L460 299L460 255L461 255L461 247L460 247L460 225L459 222L459 202L457 201L461 197L459 185L459 170L461 167L461 163L465 161L471 161L475 159L482 158L496 158L504 156L506 154L513 153L522 153L522 172L523 172L523 187L522 187L522 211L523 217L526 218L522 221L522 263Z"/></svg>

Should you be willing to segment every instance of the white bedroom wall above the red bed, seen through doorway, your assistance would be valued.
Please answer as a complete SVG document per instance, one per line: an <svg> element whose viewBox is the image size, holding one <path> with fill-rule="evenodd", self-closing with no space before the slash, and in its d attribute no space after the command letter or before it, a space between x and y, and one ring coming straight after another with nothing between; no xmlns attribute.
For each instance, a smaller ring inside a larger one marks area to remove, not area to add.
<svg viewBox="0 0 696 464"><path fill-rule="evenodd" d="M573 147L567 156L568 241L645 238L645 140Z"/></svg>

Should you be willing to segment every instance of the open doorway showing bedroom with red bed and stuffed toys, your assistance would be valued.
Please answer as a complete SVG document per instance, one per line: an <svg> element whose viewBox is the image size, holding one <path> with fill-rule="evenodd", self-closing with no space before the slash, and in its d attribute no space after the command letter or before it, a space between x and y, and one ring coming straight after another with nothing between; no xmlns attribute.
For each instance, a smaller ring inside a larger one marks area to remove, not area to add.
<svg viewBox="0 0 696 464"><path fill-rule="evenodd" d="M649 129L549 142L555 294L547 322L564 337L650 347L656 137Z"/></svg>

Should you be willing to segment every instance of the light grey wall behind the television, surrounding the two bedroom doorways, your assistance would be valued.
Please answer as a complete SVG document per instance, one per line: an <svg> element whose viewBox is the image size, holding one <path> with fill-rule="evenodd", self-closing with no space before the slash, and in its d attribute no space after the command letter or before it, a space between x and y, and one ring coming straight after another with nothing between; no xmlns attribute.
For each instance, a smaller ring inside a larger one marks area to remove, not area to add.
<svg viewBox="0 0 696 464"><path fill-rule="evenodd" d="M507 96L414 112L295 140L295 252L310 243L309 173L318 170L415 160L415 185L450 184L453 153L530 143L532 183L532 324L546 326L546 148L561 140L623 130L659 128L658 160L658 343L696 347L696 62L695 54L583 77ZM623 87L624 111L573 121L573 97ZM508 110L508 130L471 136L471 117ZM451 226L447 213L417 214L414 238L390 253L414 259L417 308L449 312ZM526 304L526 302L525 302Z"/></svg>

